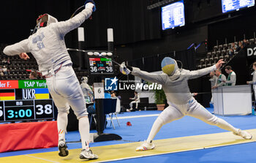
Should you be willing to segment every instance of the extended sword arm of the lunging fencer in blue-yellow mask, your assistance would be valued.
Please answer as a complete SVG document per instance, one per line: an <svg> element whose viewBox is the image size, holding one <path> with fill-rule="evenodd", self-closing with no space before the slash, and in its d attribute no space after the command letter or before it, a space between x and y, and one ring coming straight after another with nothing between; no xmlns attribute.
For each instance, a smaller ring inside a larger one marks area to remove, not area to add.
<svg viewBox="0 0 256 163"><path fill-rule="evenodd" d="M167 74L151 74L149 72L141 71L137 67L132 67L132 75L142 78L151 83L164 84L167 81Z"/></svg>

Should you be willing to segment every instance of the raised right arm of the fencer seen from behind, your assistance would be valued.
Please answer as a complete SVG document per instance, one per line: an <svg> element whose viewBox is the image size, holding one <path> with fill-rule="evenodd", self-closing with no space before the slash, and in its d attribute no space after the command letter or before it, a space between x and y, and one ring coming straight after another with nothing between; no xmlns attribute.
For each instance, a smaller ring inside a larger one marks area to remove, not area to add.
<svg viewBox="0 0 256 163"><path fill-rule="evenodd" d="M93 11L94 4L86 4L86 8L79 12L75 17L70 18L66 21L61 21L58 23L53 23L53 28L59 31L59 34L65 35L73 29L77 29L86 19L90 18Z"/></svg>

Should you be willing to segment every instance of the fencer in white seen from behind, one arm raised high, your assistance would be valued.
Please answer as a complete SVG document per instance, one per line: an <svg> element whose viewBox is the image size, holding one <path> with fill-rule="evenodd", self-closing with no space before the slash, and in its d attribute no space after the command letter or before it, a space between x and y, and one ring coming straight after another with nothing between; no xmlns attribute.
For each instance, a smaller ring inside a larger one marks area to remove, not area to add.
<svg viewBox="0 0 256 163"><path fill-rule="evenodd" d="M39 71L45 76L50 95L58 108L59 156L67 156L65 143L67 114L69 106L79 120L79 132L82 141L80 159L97 159L98 156L89 149L89 119L83 91L72 69L72 61L67 52L64 36L77 29L95 10L92 0L85 2L85 9L66 21L58 22L56 18L45 14L37 19L37 32L28 39L4 48L8 56L19 55L27 59L26 53L32 53L39 65Z"/></svg>

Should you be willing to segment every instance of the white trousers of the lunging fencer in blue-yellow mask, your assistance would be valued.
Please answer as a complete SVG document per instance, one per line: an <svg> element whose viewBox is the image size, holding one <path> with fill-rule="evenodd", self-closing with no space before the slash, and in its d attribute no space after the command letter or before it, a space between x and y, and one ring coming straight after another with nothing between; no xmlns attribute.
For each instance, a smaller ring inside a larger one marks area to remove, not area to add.
<svg viewBox="0 0 256 163"><path fill-rule="evenodd" d="M217 118L217 116L212 115L206 108L200 105L194 98L189 100L187 105L173 105L169 104L165 110L158 116L157 120L154 122L151 132L148 135L147 142L150 143L162 125L170 123L172 121L178 120L184 115L189 115L195 118L198 118L207 124L211 124L214 126L219 126L221 129L225 129L230 132L238 132L238 129L228 124L221 118Z"/></svg>

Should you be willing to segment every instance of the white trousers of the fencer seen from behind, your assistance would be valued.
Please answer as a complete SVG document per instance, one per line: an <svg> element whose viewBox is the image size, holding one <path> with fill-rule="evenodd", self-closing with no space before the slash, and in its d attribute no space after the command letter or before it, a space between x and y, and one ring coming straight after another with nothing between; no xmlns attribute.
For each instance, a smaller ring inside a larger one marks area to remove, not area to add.
<svg viewBox="0 0 256 163"><path fill-rule="evenodd" d="M78 119L88 115L83 91L72 66L61 67L56 75L46 78L46 82L59 113L69 113L71 106Z"/></svg>

